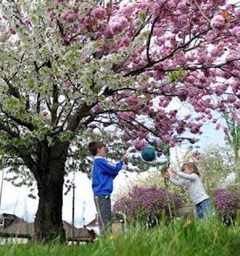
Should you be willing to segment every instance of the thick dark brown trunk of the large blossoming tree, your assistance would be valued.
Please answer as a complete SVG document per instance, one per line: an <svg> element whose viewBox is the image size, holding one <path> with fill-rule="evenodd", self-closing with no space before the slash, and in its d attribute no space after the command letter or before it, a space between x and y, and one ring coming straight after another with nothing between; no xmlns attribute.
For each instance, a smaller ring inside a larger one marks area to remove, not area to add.
<svg viewBox="0 0 240 256"><path fill-rule="evenodd" d="M35 178L39 203L34 222L34 239L37 242L64 242L65 230L62 224L63 184L66 143L48 147L39 146L39 158Z"/></svg>

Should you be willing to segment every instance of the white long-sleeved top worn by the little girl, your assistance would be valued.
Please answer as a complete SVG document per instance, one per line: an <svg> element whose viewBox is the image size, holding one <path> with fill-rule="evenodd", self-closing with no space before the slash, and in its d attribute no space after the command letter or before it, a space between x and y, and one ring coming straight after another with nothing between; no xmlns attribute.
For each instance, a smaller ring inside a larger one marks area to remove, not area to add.
<svg viewBox="0 0 240 256"><path fill-rule="evenodd" d="M182 171L179 171L177 175L183 179L177 181L175 178L169 178L169 181L177 186L186 186L195 205L208 198L198 174L184 174Z"/></svg>

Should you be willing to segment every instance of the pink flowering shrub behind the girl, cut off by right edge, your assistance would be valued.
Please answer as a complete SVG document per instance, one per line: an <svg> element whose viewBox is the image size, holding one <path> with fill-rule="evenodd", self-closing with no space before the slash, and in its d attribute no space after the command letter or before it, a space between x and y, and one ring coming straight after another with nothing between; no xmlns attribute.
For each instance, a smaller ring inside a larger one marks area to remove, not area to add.
<svg viewBox="0 0 240 256"><path fill-rule="evenodd" d="M223 222L228 224L230 218L234 220L240 210L240 194L225 188L218 188L214 190L213 197L215 209Z"/></svg>

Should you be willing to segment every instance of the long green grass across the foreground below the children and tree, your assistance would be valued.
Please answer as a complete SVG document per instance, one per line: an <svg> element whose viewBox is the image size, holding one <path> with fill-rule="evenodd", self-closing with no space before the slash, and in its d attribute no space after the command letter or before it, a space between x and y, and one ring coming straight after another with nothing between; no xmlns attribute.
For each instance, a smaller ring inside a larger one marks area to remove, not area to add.
<svg viewBox="0 0 240 256"><path fill-rule="evenodd" d="M240 255L240 225L223 226L218 220L176 221L154 229L129 227L115 240L99 239L82 246L0 246L1 256L167 256Z"/></svg>

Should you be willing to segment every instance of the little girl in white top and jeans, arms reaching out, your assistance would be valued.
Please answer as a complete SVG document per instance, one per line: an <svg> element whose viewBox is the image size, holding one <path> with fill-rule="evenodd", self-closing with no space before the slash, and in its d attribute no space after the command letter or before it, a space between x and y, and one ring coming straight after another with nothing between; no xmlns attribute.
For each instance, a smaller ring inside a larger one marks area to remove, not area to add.
<svg viewBox="0 0 240 256"><path fill-rule="evenodd" d="M168 173L163 174L163 177L169 179L169 181L176 186L185 186L192 201L195 203L196 217L201 219L204 217L205 213L209 215L212 214L210 199L204 190L199 170L195 163L188 162L184 164L182 171L175 170L174 168L169 168L169 170L182 179L175 180L175 178L171 178Z"/></svg>

